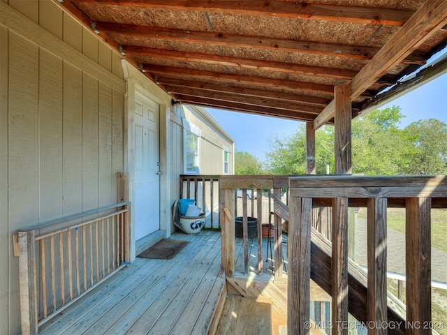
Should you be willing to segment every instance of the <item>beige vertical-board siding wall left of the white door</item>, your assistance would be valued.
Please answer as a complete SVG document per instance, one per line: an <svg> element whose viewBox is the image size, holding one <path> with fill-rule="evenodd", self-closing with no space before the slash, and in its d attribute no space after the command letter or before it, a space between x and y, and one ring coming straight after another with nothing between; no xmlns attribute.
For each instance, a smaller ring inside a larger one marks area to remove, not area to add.
<svg viewBox="0 0 447 335"><path fill-rule="evenodd" d="M0 6L0 334L18 334L11 235L117 201L126 86L119 54L52 1Z"/></svg>

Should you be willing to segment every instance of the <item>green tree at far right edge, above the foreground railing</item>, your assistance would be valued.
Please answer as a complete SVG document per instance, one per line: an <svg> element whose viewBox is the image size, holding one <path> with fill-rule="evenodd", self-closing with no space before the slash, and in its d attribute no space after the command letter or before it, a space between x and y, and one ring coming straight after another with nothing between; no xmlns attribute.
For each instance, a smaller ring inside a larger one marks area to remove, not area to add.
<svg viewBox="0 0 447 335"><path fill-rule="evenodd" d="M447 174L447 124L437 119L419 120L405 128L411 143L405 174Z"/></svg>

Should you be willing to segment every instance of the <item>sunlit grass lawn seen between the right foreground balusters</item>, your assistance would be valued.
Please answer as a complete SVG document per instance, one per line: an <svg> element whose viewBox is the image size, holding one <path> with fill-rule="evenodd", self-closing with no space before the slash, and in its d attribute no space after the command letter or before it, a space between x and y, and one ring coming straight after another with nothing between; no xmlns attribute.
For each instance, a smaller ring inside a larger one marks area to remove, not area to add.
<svg viewBox="0 0 447 335"><path fill-rule="evenodd" d="M389 208L387 215L388 227L404 234L405 209ZM366 209L361 209L358 217L366 216ZM432 209L432 246L447 253L447 209ZM388 279L388 290L397 296L397 281ZM447 335L447 290L432 288L432 321L436 325L444 325L435 330L441 335Z"/></svg>

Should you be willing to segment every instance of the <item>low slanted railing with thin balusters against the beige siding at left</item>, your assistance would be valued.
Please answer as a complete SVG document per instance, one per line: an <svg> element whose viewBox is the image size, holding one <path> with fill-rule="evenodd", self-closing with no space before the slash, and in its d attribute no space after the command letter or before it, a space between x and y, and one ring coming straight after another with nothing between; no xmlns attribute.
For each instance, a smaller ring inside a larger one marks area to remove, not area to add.
<svg viewBox="0 0 447 335"><path fill-rule="evenodd" d="M22 334L38 334L39 325L129 262L129 206L121 202L13 235Z"/></svg>

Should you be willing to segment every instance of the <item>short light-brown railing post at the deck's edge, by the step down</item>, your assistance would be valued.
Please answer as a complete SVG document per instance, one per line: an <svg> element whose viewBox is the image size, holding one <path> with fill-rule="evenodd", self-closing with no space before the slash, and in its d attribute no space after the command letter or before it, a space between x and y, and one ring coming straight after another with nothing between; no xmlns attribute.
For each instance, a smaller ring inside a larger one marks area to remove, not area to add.
<svg viewBox="0 0 447 335"><path fill-rule="evenodd" d="M221 243L222 271L227 277L235 275L235 192L233 189L221 189Z"/></svg>

